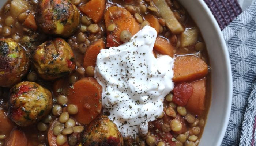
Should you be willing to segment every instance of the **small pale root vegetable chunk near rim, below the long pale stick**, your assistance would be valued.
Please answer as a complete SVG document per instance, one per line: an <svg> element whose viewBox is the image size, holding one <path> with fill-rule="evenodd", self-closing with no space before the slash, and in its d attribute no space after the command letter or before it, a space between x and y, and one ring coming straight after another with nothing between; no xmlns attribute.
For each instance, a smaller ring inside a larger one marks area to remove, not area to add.
<svg viewBox="0 0 256 146"><path fill-rule="evenodd" d="M186 28L186 30L182 32L180 35L181 47L194 45L197 41L197 37L198 37L197 28Z"/></svg>

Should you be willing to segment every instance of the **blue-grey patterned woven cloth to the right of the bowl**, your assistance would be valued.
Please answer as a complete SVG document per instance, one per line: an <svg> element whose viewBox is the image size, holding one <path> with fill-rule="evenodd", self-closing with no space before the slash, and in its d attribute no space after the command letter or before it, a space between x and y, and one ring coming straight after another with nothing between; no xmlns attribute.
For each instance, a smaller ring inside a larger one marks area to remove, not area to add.
<svg viewBox="0 0 256 146"><path fill-rule="evenodd" d="M256 3L223 35L232 67L233 102L222 146L256 146Z"/></svg>

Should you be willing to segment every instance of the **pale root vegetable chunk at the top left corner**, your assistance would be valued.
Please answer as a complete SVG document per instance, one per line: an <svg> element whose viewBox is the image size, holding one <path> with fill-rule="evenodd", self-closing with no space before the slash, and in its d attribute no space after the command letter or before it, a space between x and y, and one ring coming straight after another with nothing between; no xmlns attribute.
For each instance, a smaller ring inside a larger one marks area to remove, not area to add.
<svg viewBox="0 0 256 146"><path fill-rule="evenodd" d="M29 9L27 5L24 0L13 0L10 7L12 15L19 16L20 13L27 11Z"/></svg>

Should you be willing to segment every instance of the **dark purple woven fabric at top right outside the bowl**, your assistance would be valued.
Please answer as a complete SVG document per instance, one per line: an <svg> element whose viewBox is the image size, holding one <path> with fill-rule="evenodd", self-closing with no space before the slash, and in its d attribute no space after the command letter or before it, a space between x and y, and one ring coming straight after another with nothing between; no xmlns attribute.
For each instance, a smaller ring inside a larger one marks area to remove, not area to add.
<svg viewBox="0 0 256 146"><path fill-rule="evenodd" d="M237 0L204 0L216 18L219 27L223 30L241 12Z"/></svg>

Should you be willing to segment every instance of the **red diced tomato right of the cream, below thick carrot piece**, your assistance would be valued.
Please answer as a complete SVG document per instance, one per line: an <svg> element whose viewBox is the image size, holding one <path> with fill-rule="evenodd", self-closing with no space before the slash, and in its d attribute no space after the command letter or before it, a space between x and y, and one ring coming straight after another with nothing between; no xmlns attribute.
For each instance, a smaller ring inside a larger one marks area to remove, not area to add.
<svg viewBox="0 0 256 146"><path fill-rule="evenodd" d="M173 89L173 102L185 106L193 92L193 86L189 83L181 83L174 86Z"/></svg>

